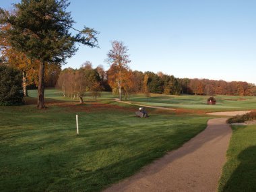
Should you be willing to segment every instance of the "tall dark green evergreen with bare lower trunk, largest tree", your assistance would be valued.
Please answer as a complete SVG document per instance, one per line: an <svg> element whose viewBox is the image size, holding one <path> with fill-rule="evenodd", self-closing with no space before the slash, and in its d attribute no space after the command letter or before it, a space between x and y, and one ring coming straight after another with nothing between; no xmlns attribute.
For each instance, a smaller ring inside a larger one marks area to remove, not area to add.
<svg viewBox="0 0 256 192"><path fill-rule="evenodd" d="M9 24L8 42L31 59L40 61L38 70L38 108L44 108L45 63L65 63L77 51L75 42L97 46L97 32L76 30L67 0L22 0L10 13L0 9L0 24ZM69 30L77 32L73 35Z"/></svg>

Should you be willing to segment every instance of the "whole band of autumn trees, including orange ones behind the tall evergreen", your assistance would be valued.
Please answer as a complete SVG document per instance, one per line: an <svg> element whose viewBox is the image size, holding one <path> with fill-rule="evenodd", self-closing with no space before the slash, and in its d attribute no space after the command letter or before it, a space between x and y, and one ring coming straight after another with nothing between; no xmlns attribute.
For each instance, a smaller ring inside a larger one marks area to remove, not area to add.
<svg viewBox="0 0 256 192"><path fill-rule="evenodd" d="M13 49L2 50L1 56L0 65L15 67L23 72L25 87L38 86L38 61L32 62ZM110 65L108 70L104 70L101 65L93 68L92 63L86 61L79 69L61 70L61 65L46 63L45 86L61 88L63 96L83 96L89 91L96 92L96 95L102 91L118 94L119 87L115 75L117 73L113 65ZM247 82L177 78L163 72L132 71L128 67L123 69L122 83L122 95L126 99L131 93L256 96L255 84Z"/></svg>

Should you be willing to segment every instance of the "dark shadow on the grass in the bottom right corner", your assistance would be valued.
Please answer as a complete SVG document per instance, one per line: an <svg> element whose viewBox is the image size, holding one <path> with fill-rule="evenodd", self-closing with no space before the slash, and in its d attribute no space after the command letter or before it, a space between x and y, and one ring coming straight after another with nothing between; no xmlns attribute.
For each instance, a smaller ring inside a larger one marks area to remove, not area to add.
<svg viewBox="0 0 256 192"><path fill-rule="evenodd" d="M223 191L256 191L256 146L243 150L238 155L238 160L240 164L228 179Z"/></svg>

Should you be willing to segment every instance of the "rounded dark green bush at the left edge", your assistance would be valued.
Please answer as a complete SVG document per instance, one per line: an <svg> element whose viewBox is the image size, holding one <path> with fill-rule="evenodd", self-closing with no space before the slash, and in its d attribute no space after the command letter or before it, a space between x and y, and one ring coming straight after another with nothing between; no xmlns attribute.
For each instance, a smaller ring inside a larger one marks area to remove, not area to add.
<svg viewBox="0 0 256 192"><path fill-rule="evenodd" d="M0 105L17 105L22 103L21 71L0 65Z"/></svg>

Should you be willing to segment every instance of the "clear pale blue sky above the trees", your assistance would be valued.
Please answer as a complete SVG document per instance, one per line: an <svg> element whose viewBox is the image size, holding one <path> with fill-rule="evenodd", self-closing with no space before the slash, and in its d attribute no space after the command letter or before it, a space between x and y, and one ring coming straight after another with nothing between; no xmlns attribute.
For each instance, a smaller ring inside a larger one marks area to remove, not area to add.
<svg viewBox="0 0 256 192"><path fill-rule="evenodd" d="M63 67L91 61L108 69L110 42L122 40L133 70L256 84L255 10L253 0L72 0L75 27L98 30L100 49L79 46Z"/></svg>

